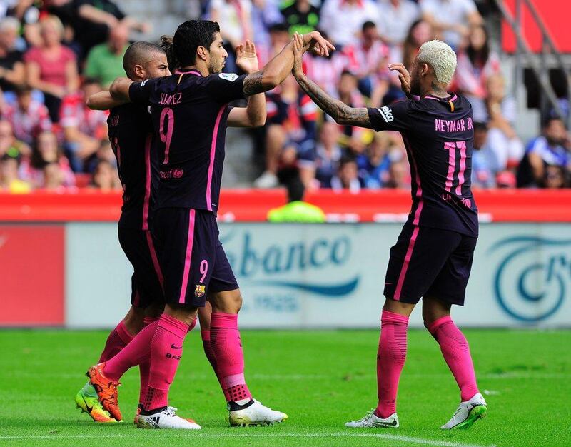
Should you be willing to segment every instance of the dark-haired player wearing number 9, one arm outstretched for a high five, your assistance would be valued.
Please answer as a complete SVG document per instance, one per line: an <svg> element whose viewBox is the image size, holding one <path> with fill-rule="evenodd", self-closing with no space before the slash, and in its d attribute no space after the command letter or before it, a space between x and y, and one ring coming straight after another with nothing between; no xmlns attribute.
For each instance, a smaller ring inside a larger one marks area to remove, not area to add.
<svg viewBox="0 0 571 447"><path fill-rule="evenodd" d="M332 45L317 32L302 38L315 52L328 55ZM117 381L151 351L148 392L138 426L196 428L168 407L168 389L181 360L183 341L197 309L212 304L211 346L228 396L231 425L274 423L285 413L263 406L244 379L238 332L241 293L216 225L216 211L228 124L228 102L268 91L290 74L293 42L261 71L238 76L220 73L228 54L220 28L212 21L186 21L173 37L180 65L173 76L134 82L119 78L111 94L146 105L158 142L160 166L153 232L161 253L165 311L155 327L147 326L126 348L89 370L103 408L121 418Z"/></svg>

